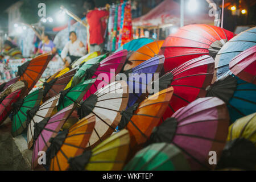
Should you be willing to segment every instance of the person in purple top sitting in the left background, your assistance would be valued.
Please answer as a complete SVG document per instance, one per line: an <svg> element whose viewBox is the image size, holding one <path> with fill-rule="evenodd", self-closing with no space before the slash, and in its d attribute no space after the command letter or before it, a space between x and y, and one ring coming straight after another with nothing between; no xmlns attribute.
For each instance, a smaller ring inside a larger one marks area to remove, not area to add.
<svg viewBox="0 0 256 182"><path fill-rule="evenodd" d="M36 52L36 55L46 52L52 52L52 54L56 52L55 45L53 44L52 40L49 39L48 34L44 34L43 40L40 42L38 46L38 52Z"/></svg>

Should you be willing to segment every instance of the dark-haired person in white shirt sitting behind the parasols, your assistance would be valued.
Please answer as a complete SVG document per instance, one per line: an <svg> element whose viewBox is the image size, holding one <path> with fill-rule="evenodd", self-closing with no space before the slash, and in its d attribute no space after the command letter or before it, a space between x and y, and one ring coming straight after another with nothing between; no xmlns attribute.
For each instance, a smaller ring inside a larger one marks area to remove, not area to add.
<svg viewBox="0 0 256 182"><path fill-rule="evenodd" d="M69 32L69 42L65 44L63 50L60 53L65 66L68 67L73 61L86 54L86 48L84 44L77 39L75 31Z"/></svg>

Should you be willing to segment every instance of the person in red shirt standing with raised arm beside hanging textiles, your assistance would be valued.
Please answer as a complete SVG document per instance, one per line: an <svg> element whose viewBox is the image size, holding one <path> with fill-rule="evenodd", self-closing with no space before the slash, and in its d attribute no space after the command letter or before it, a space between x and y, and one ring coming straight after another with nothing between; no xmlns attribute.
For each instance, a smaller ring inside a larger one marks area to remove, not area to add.
<svg viewBox="0 0 256 182"><path fill-rule="evenodd" d="M84 9L87 11L86 20L89 25L90 52L103 52L106 18L109 16L109 5L106 5L106 10L98 10L95 8L94 1L88 0L84 3Z"/></svg>

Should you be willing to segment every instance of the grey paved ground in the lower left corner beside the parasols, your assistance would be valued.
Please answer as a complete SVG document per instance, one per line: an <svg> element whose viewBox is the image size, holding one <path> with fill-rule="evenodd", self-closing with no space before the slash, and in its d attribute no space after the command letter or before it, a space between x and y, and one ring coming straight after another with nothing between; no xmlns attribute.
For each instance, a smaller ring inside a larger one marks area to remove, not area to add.
<svg viewBox="0 0 256 182"><path fill-rule="evenodd" d="M30 170L32 150L24 135L13 138L9 118L0 125L0 170Z"/></svg>

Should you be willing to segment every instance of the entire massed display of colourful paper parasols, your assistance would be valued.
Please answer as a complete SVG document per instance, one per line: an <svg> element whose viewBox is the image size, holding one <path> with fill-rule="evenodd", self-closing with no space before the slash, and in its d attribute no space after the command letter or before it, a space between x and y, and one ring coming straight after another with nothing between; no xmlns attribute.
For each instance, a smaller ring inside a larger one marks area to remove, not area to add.
<svg viewBox="0 0 256 182"><path fill-rule="evenodd" d="M0 125L27 133L34 170L255 170L255 33L184 26L81 57L33 89L45 53L0 85Z"/></svg>

